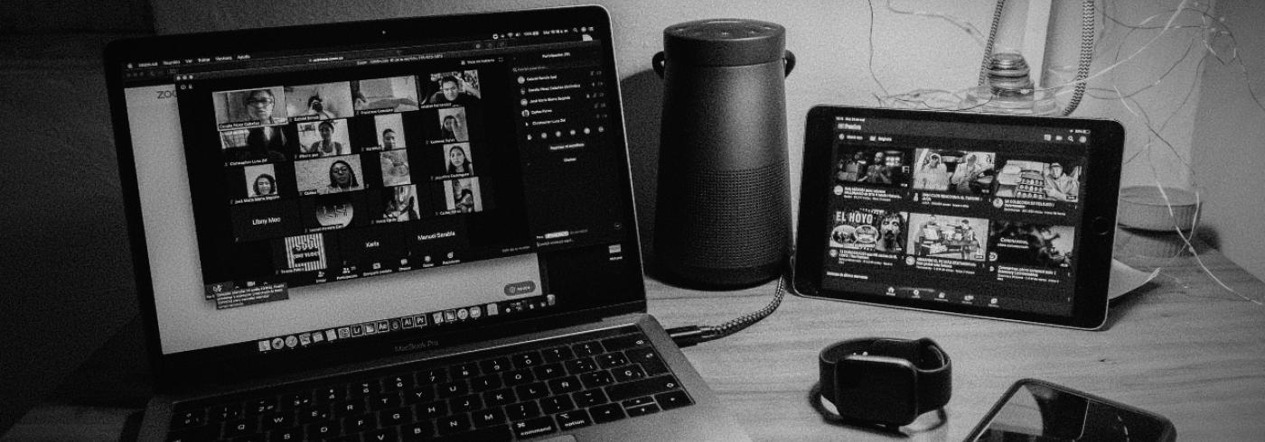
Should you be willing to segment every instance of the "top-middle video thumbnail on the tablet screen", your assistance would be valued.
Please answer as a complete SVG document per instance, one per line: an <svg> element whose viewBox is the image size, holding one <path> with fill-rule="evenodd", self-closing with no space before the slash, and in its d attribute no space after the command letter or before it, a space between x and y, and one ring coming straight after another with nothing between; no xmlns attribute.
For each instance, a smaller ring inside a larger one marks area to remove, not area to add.
<svg viewBox="0 0 1265 442"><path fill-rule="evenodd" d="M920 191L985 194L992 192L997 174L992 152L917 149L913 188Z"/></svg>

